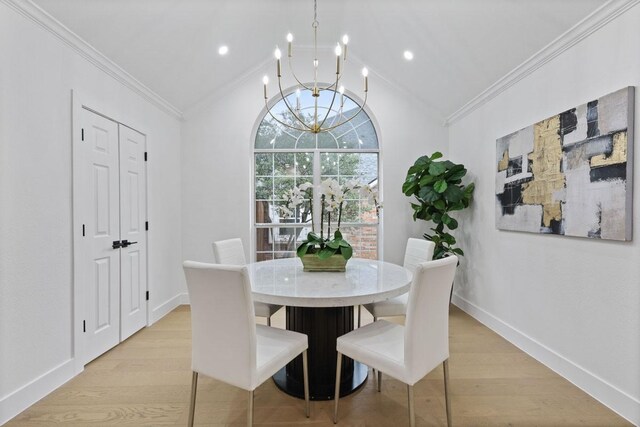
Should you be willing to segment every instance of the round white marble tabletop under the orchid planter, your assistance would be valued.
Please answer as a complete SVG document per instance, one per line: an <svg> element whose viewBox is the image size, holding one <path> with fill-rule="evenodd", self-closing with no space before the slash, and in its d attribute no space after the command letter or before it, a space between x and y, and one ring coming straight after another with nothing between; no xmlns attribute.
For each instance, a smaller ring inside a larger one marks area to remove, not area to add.
<svg viewBox="0 0 640 427"><path fill-rule="evenodd" d="M352 258L347 271L305 272L298 258L247 265L255 301L295 307L346 307L409 291L412 274L389 262Z"/></svg>

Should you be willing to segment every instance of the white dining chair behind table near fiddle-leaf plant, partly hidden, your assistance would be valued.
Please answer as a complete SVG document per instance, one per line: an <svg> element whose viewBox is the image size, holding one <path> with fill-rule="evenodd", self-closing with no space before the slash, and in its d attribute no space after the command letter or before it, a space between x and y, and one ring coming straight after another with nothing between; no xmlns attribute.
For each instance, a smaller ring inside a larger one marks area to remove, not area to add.
<svg viewBox="0 0 640 427"><path fill-rule="evenodd" d="M435 247L436 245L429 240L409 238L404 252L404 268L413 273L418 264L431 261ZM406 293L385 301L364 304L364 308L371 313L374 322L379 317L404 316L407 312L408 295ZM360 327L360 315L360 307L358 307L358 327Z"/></svg>

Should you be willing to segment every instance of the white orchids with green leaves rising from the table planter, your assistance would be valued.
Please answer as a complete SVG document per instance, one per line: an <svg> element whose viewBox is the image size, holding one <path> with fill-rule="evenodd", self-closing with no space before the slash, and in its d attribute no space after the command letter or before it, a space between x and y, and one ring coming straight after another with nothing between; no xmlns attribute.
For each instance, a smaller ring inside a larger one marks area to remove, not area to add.
<svg viewBox="0 0 640 427"><path fill-rule="evenodd" d="M378 202L378 194L374 188L368 184L360 184L355 180L347 181L344 185L332 178L325 179L320 184L320 236L316 234L315 223L313 219L313 185L304 183L291 190L287 190L283 195L286 200L285 206L280 206L280 212L284 217L294 215L296 208L303 205L306 200L309 201L309 212L311 214L312 231L307 234L297 249L297 255L302 257L306 254L317 253L320 259L329 258L331 255L342 255L348 260L353 255L353 249L349 242L343 239L340 232L340 224L342 221L342 209L347 203L347 194L358 191L360 197L367 200L367 203L376 208L376 215L379 213L382 204ZM331 238L331 217L338 217L337 227ZM327 221L327 235L324 236L324 221Z"/></svg>

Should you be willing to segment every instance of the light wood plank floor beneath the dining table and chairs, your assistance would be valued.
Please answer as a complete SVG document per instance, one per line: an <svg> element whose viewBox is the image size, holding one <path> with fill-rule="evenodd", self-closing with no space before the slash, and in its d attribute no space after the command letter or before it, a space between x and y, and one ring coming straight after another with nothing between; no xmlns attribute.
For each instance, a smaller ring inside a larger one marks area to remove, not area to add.
<svg viewBox="0 0 640 427"><path fill-rule="evenodd" d="M364 310L363 310L364 312ZM365 322L370 317L365 317ZM401 319L396 319L401 321ZM273 321L284 325L284 310ZM451 309L451 396L456 426L630 425L459 309ZM7 424L14 426L187 424L190 312L174 310L86 366L85 371ZM195 422L246 425L247 392L200 377ZM415 388L418 426L446 425L442 370ZM271 381L255 393L257 425L333 426L332 402L303 401ZM389 377L340 400L339 426L408 425L406 387Z"/></svg>

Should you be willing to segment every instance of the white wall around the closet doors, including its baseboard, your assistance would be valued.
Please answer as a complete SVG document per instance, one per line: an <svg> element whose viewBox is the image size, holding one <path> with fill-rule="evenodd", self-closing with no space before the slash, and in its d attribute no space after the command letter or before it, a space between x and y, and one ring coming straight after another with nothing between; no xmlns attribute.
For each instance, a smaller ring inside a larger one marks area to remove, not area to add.
<svg viewBox="0 0 640 427"><path fill-rule="evenodd" d="M183 277L180 121L2 2L0 64L2 424L74 374L72 89L148 132L152 316Z"/></svg>

